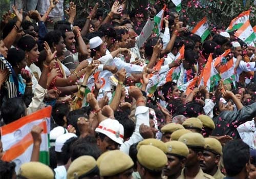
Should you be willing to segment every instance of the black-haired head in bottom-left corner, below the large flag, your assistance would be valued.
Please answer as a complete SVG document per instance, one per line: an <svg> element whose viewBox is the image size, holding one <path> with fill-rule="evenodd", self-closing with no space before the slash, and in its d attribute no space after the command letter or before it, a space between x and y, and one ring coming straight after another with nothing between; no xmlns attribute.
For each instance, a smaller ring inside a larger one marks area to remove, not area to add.
<svg viewBox="0 0 256 179"><path fill-rule="evenodd" d="M16 164L0 160L0 178L11 179L15 173Z"/></svg>

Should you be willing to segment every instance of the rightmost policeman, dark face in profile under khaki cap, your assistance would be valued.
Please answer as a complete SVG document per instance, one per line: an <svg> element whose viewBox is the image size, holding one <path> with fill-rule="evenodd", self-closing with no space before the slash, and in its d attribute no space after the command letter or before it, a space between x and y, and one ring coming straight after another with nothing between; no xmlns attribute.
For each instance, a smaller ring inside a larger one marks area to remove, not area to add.
<svg viewBox="0 0 256 179"><path fill-rule="evenodd" d="M214 176L215 179L224 178L225 175L221 173L218 167L222 155L221 143L214 138L205 138L204 143L204 152L200 161L200 167L205 173Z"/></svg>

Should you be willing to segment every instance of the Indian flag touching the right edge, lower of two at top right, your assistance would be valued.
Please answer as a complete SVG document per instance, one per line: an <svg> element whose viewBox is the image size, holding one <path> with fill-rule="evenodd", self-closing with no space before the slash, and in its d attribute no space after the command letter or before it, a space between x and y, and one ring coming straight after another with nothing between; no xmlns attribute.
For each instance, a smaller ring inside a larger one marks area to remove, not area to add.
<svg viewBox="0 0 256 179"><path fill-rule="evenodd" d="M256 35L250 25L250 21L247 20L243 26L241 26L234 36L243 40L248 46L255 47L254 43L256 40Z"/></svg>

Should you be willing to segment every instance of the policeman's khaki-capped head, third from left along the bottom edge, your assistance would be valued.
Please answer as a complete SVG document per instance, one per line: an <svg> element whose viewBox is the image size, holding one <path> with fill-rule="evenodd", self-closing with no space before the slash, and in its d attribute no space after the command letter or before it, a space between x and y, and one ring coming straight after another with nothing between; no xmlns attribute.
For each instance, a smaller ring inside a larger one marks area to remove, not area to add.
<svg viewBox="0 0 256 179"><path fill-rule="evenodd" d="M106 153L99 163L100 176L104 179L132 178L133 160L120 150Z"/></svg>

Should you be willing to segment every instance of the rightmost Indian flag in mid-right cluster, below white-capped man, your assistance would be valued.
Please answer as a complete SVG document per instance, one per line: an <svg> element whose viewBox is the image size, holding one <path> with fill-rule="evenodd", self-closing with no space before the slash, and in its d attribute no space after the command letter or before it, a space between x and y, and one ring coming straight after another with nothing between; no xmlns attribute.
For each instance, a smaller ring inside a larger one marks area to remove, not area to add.
<svg viewBox="0 0 256 179"><path fill-rule="evenodd" d="M223 84L235 83L236 73L234 71L233 58L220 67L220 76Z"/></svg>

